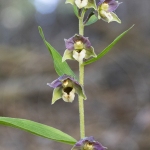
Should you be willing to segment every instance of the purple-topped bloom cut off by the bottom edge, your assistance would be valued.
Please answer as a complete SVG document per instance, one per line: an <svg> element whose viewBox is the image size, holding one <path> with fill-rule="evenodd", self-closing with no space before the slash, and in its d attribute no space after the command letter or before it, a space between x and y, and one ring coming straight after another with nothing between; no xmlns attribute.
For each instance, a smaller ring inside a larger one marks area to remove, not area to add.
<svg viewBox="0 0 150 150"><path fill-rule="evenodd" d="M105 150L99 142L95 141L93 136L85 137L78 141L71 150Z"/></svg>

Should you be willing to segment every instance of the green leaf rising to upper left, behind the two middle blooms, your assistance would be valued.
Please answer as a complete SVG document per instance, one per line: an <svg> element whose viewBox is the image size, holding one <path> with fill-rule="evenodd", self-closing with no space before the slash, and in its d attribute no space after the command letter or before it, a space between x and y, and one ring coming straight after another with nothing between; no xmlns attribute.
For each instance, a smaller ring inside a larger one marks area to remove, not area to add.
<svg viewBox="0 0 150 150"><path fill-rule="evenodd" d="M54 63L54 68L55 71L57 72L57 74L59 76L62 76L64 74L70 75L74 78L76 78L76 75L74 74L74 72L71 70L71 68L69 67L69 65L67 64L66 61L62 62L62 56L58 53L58 51L56 51L46 40L42 31L42 28L39 26L39 33L47 47L47 49L49 50L52 59L53 59L53 63Z"/></svg>

